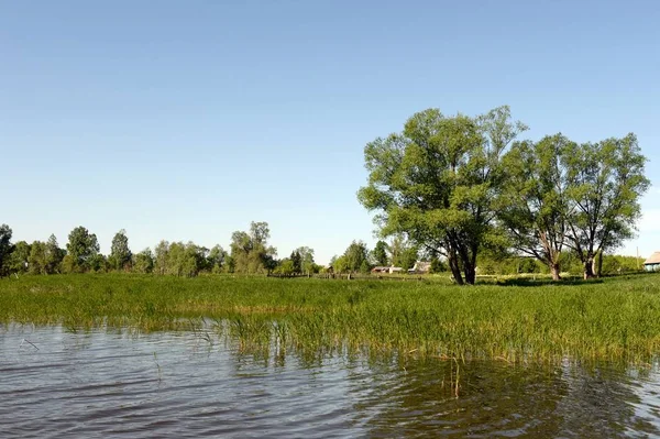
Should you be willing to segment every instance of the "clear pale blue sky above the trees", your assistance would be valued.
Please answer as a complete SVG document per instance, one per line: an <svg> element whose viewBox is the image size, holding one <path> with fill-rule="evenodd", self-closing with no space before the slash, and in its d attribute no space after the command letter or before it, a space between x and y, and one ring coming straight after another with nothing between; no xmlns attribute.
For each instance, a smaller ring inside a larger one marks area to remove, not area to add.
<svg viewBox="0 0 660 439"><path fill-rule="evenodd" d="M373 246L364 145L427 108L508 105L538 140L637 134L660 251L656 1L0 1L0 223L109 252L228 248L266 221L280 257Z"/></svg>

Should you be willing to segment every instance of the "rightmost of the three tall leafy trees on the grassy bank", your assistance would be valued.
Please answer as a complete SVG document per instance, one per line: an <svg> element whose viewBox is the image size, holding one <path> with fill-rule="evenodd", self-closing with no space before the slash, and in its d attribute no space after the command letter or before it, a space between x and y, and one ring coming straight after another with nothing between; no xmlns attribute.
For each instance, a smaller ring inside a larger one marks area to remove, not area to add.
<svg viewBox="0 0 660 439"><path fill-rule="evenodd" d="M650 186L647 158L635 134L572 145L565 156L572 215L568 245L584 267L584 278L600 274L596 256L617 249L635 233L639 199ZM602 262L602 256L600 257Z"/></svg>

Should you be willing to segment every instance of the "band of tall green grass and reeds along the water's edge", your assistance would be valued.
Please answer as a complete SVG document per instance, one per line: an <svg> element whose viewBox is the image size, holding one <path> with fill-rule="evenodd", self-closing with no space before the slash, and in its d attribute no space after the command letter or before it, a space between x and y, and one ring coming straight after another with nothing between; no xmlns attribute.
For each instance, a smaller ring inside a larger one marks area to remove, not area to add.
<svg viewBox="0 0 660 439"><path fill-rule="evenodd" d="M199 328L202 318L266 349L640 363L660 353L660 276L474 287L125 274L0 281L4 323L155 331Z"/></svg>

